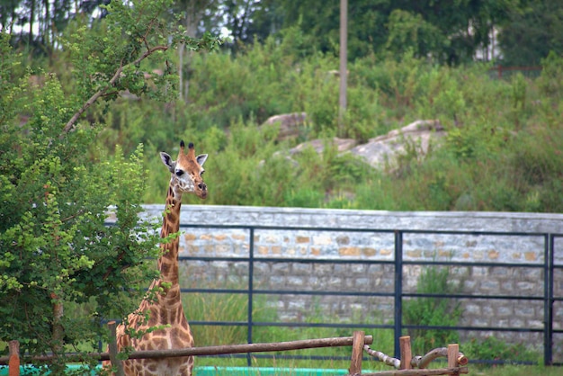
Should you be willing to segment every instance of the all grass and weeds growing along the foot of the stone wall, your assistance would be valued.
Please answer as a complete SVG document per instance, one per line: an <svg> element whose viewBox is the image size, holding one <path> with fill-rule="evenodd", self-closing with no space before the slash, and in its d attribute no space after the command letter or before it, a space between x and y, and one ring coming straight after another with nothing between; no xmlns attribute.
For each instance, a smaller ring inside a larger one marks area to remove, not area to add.
<svg viewBox="0 0 563 376"><path fill-rule="evenodd" d="M451 284L450 273L446 267L425 268L420 274L417 285L419 293L451 293L459 292L459 286ZM212 285L207 286L212 288ZM221 286L224 288L224 286ZM230 286L237 289L237 286ZM242 287L244 289L244 286ZM273 304L276 300L267 300L264 295L257 295L254 299L253 320L255 322L280 322L278 311ZM211 325L192 325L194 337L198 341L196 345L236 345L246 344L247 328L244 325L247 320L247 296L246 294L209 294L190 293L183 295L183 306L186 316L192 321L227 321L243 323L242 326L218 327ZM456 326L460 324L460 305L455 300L438 298L416 298L407 300L403 306L404 324L406 325L428 325L428 326ZM322 323L360 323L368 320L371 324L383 324L379 319L378 312L371 312L367 316L356 315L350 321L343 322L339 318L327 317L317 307L303 310L303 318L296 320L299 323L307 323L314 326ZM366 318L367 317L367 318ZM289 324L291 321L289 322ZM253 328L254 343L268 343L293 341L311 338L323 338L334 336L352 336L353 330L363 330L366 335L373 336L374 350L393 355L394 337L392 329L373 328L335 328L335 327L263 327ZM436 347L447 344L459 343L460 351L468 356L470 360L476 361L498 361L505 363L541 363L541 354L524 344L507 344L505 341L490 336L484 339L473 338L469 341L460 342L457 331L445 329L410 329L408 335L412 339L412 351L414 355L423 355ZM290 353L268 353L273 358L252 357L252 365L256 367L289 367L289 368L320 368L320 369L347 369L348 360L324 360L317 361L309 359L312 356L325 357L349 357L350 347L321 348L311 350L291 351ZM254 354L256 355L256 354ZM283 355L299 355L303 359L285 359ZM221 366L221 367L245 367L246 357L199 357L197 365ZM441 360L433 362L431 368L443 366ZM502 370L515 370L512 366L487 363L471 363L471 372L485 372L485 374L502 375ZM389 370L389 366L370 359L363 364L366 370ZM546 370L540 365L525 367L527 370ZM508 372L508 371L506 371ZM540 371L538 371L540 372ZM505 373L510 374L510 373ZM540 373L529 373L540 374ZM541 373L543 374L543 373ZM554 372L554 375L563 372Z"/></svg>

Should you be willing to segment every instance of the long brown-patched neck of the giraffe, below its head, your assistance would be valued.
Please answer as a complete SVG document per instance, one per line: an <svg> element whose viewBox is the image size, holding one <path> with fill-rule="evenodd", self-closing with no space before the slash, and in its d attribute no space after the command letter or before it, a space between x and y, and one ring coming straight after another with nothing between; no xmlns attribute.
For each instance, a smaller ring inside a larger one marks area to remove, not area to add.
<svg viewBox="0 0 563 376"><path fill-rule="evenodd" d="M167 237L180 230L180 207L182 206L182 194L174 192L174 187L168 187L166 196L166 213L162 224L161 237ZM163 255L158 259L158 270L161 281L171 282L172 287L178 285L178 245L179 238L176 237L167 244L161 244ZM171 288L172 288L171 287Z"/></svg>

